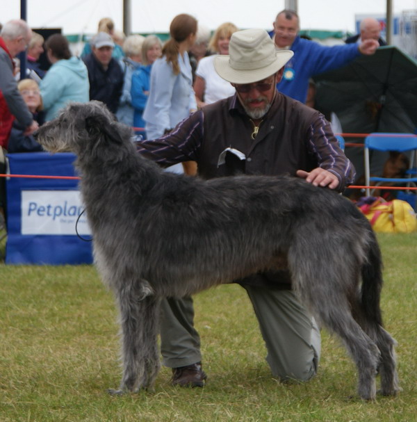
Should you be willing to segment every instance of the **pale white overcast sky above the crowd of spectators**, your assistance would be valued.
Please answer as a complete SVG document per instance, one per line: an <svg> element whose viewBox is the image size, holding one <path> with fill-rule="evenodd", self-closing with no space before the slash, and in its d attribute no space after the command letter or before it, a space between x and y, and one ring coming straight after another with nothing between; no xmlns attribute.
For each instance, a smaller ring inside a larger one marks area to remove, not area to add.
<svg viewBox="0 0 417 422"><path fill-rule="evenodd" d="M33 28L63 28L66 35L95 33L101 17L112 17L122 29L122 0L26 0ZM0 22L20 17L20 0L0 0ZM223 22L239 28L272 29L284 0L131 0L134 33L167 32L179 13L190 13L215 29ZM393 13L417 10L417 0L393 0ZM302 29L355 32L354 16L384 15L386 0L298 0Z"/></svg>

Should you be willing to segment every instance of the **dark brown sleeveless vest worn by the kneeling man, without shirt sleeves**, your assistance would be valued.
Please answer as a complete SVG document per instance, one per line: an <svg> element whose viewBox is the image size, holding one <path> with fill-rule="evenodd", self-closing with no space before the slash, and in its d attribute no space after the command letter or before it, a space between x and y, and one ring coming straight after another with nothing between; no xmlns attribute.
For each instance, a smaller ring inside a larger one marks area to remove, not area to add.
<svg viewBox="0 0 417 422"><path fill-rule="evenodd" d="M221 106L220 106L220 104ZM203 108L204 139L199 153L199 174L206 178L247 175L295 175L298 169L312 170L317 160L309 154L306 141L318 112L279 94L252 138L254 124L236 97ZM224 149L231 147L245 154L241 161L227 153L218 165Z"/></svg>

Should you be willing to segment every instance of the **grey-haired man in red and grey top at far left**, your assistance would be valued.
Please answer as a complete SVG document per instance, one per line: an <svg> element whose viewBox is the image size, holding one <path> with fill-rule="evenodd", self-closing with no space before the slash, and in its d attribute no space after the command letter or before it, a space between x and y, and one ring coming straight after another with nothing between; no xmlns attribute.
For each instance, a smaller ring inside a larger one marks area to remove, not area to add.
<svg viewBox="0 0 417 422"><path fill-rule="evenodd" d="M13 120L17 120L25 134L38 129L32 113L17 89L13 58L26 50L32 31L22 19L4 24L0 33L0 147L7 149Z"/></svg>

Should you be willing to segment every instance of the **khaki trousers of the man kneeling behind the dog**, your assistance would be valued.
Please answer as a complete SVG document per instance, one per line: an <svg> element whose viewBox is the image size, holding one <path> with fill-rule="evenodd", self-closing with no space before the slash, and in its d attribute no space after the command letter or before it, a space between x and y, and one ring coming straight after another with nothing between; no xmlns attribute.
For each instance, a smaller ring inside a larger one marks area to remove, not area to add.
<svg viewBox="0 0 417 422"><path fill-rule="evenodd" d="M320 330L292 291L245 286L268 350L272 375L281 380L309 380L320 359ZM194 327L193 299L163 300L161 304L163 364L177 368L202 361Z"/></svg>

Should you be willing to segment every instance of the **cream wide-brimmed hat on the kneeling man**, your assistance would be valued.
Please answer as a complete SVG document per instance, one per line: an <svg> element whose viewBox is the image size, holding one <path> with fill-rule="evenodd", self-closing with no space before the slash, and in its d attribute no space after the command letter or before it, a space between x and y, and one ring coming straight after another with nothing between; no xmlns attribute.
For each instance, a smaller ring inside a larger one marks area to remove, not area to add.
<svg viewBox="0 0 417 422"><path fill-rule="evenodd" d="M278 72L293 55L291 50L277 51L264 29L244 29L231 35L229 55L216 56L214 68L231 83L253 83Z"/></svg>

